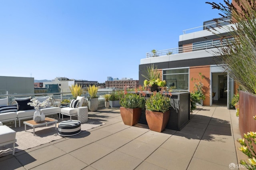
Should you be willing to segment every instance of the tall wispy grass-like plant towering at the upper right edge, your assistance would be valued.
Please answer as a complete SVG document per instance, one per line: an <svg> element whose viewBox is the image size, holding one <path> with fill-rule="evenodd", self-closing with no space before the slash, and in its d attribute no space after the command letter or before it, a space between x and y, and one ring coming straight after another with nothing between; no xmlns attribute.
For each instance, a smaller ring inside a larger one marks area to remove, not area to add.
<svg viewBox="0 0 256 170"><path fill-rule="evenodd" d="M236 6L229 0L224 0L224 4L206 2L212 5L213 9L222 12L222 17L232 16L231 28L220 27L228 31L227 37L223 38L224 46L218 47L216 56L218 62L232 78L241 85L242 89L256 94L256 1L255 0L233 0ZM241 9L241 10L240 10ZM218 34L216 29L211 30Z"/></svg>

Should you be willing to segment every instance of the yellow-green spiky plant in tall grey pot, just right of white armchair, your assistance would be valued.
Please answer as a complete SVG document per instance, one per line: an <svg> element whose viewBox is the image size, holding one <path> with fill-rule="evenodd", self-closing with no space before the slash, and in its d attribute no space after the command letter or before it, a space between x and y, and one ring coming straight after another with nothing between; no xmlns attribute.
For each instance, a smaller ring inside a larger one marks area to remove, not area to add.
<svg viewBox="0 0 256 170"><path fill-rule="evenodd" d="M97 111L98 109L98 96L97 96L97 92L98 92L99 87L96 87L96 85L90 85L87 88L87 91L90 95L89 99L88 99L88 107L90 109L90 111Z"/></svg>

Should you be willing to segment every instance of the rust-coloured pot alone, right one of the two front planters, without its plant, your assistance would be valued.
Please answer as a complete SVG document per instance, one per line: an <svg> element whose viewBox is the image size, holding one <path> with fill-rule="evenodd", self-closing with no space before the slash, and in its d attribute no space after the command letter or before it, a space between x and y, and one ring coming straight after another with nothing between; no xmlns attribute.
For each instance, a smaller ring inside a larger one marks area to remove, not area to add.
<svg viewBox="0 0 256 170"><path fill-rule="evenodd" d="M162 113L146 110L146 120L150 130L162 132L169 120L170 110Z"/></svg>

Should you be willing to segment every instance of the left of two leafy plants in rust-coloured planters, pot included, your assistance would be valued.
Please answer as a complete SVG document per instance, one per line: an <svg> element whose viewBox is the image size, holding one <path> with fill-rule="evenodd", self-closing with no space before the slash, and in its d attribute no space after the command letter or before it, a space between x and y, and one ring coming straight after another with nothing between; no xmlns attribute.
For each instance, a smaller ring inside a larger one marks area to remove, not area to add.
<svg viewBox="0 0 256 170"><path fill-rule="evenodd" d="M120 100L120 114L124 125L134 126L138 123L142 108L145 107L145 97L127 93Z"/></svg>

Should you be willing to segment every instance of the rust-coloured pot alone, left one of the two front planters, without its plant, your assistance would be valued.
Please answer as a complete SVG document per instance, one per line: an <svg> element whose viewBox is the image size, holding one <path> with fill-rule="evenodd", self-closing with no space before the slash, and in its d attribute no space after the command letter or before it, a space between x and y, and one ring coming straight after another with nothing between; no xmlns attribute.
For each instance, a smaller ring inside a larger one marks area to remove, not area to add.
<svg viewBox="0 0 256 170"><path fill-rule="evenodd" d="M123 119L124 125L134 126L138 123L141 116L140 108L125 108L120 107L120 114Z"/></svg>

